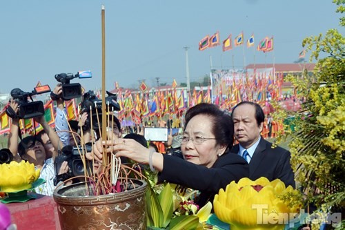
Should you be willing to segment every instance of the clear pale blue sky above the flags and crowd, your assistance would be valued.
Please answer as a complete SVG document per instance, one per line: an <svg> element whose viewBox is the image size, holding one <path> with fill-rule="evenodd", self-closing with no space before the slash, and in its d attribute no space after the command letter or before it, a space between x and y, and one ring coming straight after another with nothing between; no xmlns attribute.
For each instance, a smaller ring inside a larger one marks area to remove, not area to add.
<svg viewBox="0 0 345 230"><path fill-rule="evenodd" d="M92 79L73 79L86 89L101 87L101 5L106 8L106 89L190 81L214 68L245 63L293 63L302 39L339 26L331 0L3 0L0 3L0 93L31 91L40 81L54 88L57 73L91 70ZM244 32L255 44L274 36L274 51L221 46L198 50L199 41L219 31L223 41ZM211 58L210 58L211 57ZM308 54L307 56L308 57Z"/></svg>

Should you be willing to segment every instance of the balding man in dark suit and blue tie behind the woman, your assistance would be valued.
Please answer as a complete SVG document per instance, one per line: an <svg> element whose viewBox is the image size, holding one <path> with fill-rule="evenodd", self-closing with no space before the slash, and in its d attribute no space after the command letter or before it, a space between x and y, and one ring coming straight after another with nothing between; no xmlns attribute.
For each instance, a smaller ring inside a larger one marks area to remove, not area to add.
<svg viewBox="0 0 345 230"><path fill-rule="evenodd" d="M290 152L272 144L260 135L264 126L264 111L259 104L240 102L231 114L234 122L235 138L239 144L231 149L249 163L249 178L260 177L272 181L277 178L286 186L295 188L294 173L290 165Z"/></svg>

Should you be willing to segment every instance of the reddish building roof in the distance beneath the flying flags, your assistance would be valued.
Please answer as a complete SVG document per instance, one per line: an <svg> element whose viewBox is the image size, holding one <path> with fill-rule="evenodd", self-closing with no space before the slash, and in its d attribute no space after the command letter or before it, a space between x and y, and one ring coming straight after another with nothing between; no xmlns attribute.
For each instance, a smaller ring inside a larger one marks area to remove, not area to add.
<svg viewBox="0 0 345 230"><path fill-rule="evenodd" d="M272 68L275 67L276 72L302 72L305 68L312 71L315 68L314 63L294 63L294 64L249 64L248 68Z"/></svg>

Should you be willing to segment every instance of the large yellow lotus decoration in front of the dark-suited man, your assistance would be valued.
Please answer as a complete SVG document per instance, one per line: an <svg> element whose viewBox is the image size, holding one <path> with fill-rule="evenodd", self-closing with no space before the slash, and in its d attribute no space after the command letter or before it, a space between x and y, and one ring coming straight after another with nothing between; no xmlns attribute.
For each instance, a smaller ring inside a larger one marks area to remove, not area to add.
<svg viewBox="0 0 345 230"><path fill-rule="evenodd" d="M242 178L228 184L226 191L220 189L213 206L219 220L230 224L231 230L284 229L302 207L299 198L299 191L285 188L279 179Z"/></svg>

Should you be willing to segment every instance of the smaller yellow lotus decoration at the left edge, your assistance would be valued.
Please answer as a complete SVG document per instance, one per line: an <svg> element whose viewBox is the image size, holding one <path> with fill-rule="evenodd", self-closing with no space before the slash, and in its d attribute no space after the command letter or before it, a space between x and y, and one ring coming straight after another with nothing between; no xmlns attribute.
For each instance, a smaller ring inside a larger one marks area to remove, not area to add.
<svg viewBox="0 0 345 230"><path fill-rule="evenodd" d="M25 161L0 164L0 191L14 193L31 189L39 173L39 169L34 169L34 164Z"/></svg>

